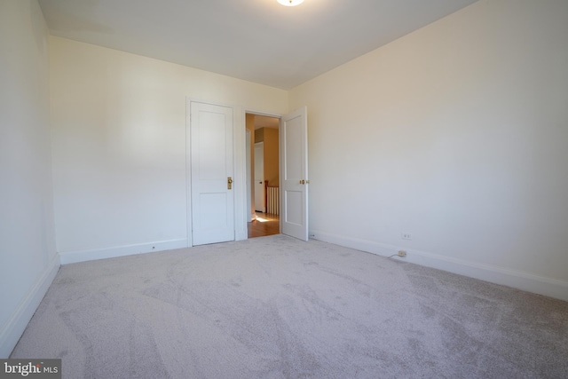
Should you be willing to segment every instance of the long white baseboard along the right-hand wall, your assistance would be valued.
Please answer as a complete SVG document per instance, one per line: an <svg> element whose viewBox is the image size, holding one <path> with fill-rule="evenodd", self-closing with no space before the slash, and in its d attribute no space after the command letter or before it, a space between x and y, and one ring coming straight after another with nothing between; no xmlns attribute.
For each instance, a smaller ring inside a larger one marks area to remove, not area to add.
<svg viewBox="0 0 568 379"><path fill-rule="evenodd" d="M359 240L315 230L312 231L310 235L315 240L326 241L334 243L335 245L358 249L383 257L390 257L397 254L398 250L405 250L408 255L405 258L397 259L568 301L568 281L549 279L527 272L509 270L492 265L482 265L475 262L454 259L452 257L439 256L421 250L407 249L374 241Z"/></svg>

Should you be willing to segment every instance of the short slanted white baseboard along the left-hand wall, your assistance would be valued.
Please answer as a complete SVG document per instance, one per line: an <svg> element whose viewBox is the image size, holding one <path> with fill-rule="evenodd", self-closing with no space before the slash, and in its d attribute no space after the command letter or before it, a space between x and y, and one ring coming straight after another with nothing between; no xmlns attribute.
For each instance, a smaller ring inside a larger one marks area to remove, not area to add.
<svg viewBox="0 0 568 379"><path fill-rule="evenodd" d="M28 296L24 298L16 311L13 312L10 320L0 330L0 359L7 359L16 343L20 341L20 336L24 333L29 320L32 319L58 271L59 255L56 254L51 259L42 276L36 281L34 287L28 292Z"/></svg>

